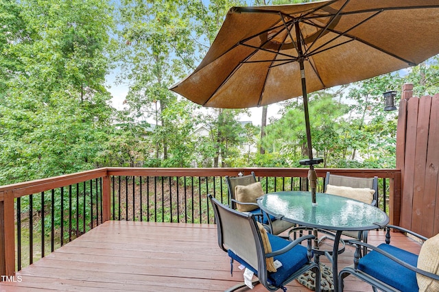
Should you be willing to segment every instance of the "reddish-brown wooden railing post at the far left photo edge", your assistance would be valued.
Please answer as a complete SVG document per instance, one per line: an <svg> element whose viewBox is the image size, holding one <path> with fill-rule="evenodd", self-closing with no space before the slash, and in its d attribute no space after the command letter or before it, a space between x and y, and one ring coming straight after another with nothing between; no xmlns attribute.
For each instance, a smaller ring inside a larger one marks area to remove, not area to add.
<svg viewBox="0 0 439 292"><path fill-rule="evenodd" d="M5 191L0 193L1 196L3 196L3 200L0 200L0 276L14 276L14 193Z"/></svg>

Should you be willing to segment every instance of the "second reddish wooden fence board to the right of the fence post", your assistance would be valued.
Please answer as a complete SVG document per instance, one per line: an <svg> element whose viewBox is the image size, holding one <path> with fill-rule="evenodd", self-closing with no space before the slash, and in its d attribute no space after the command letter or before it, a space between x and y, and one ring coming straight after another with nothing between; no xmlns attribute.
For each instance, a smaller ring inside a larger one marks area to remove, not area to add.
<svg viewBox="0 0 439 292"><path fill-rule="evenodd" d="M431 97L425 96L419 100L418 125L416 129L416 154L414 167L413 213L412 230L420 232L423 226L424 194L425 194L425 164L427 161L427 143ZM428 181L428 180L427 180Z"/></svg>

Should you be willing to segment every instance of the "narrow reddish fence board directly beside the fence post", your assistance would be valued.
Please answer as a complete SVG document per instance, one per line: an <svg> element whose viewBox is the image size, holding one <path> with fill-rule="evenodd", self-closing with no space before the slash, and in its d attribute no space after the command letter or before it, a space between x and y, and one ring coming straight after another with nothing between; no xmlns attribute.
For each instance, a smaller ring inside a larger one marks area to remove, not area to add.
<svg viewBox="0 0 439 292"><path fill-rule="evenodd" d="M412 98L407 102L407 130L406 141L416 141L418 124L419 99ZM405 144L404 160L404 188L401 202L401 226L412 229L412 206L415 167L416 143Z"/></svg>

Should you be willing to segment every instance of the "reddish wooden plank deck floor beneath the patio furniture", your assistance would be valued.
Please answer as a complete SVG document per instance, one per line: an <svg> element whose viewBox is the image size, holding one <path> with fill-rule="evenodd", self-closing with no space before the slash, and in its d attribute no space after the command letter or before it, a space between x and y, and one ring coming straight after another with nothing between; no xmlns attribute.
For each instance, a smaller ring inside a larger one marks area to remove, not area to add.
<svg viewBox="0 0 439 292"><path fill-rule="evenodd" d="M370 232L369 243L383 239L383 232ZM392 243L416 253L420 249L402 234L392 234ZM352 256L353 248L346 247L339 266L350 265ZM215 225L107 221L23 268L14 278L21 282L0 282L0 292L224 291L242 282L237 266L231 277ZM372 291L353 277L345 283L345 291ZM296 280L287 288L309 291ZM266 289L259 284L252 291Z"/></svg>

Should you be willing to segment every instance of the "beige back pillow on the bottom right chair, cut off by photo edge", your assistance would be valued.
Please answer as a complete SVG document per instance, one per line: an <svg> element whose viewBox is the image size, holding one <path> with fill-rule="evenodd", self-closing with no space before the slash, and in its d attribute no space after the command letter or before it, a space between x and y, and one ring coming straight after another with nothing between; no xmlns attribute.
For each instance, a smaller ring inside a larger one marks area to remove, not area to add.
<svg viewBox="0 0 439 292"><path fill-rule="evenodd" d="M425 241L420 248L418 268L439 275L439 234ZM416 273L419 291L439 291L439 281Z"/></svg>

